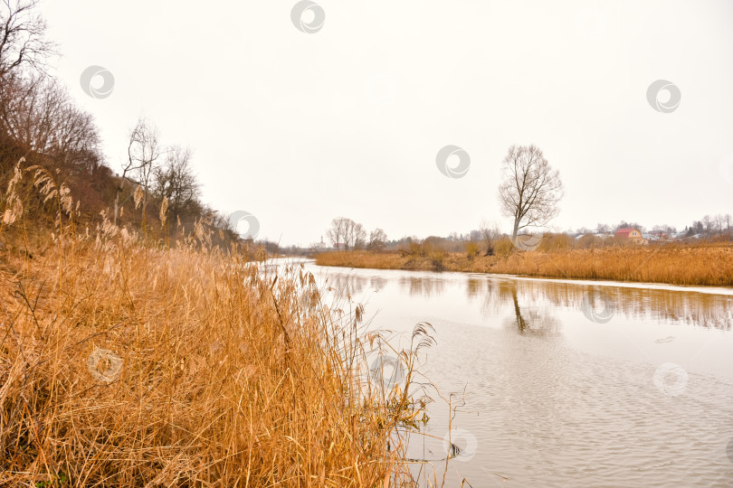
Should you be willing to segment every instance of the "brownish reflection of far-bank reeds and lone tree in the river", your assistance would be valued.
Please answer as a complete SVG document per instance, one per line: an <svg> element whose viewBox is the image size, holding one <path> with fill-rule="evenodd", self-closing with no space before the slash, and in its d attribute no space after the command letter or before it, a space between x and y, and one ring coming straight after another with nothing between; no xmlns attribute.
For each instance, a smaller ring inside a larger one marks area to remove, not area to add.
<svg viewBox="0 0 733 488"><path fill-rule="evenodd" d="M409 296L441 296L450 280L441 276L399 277L402 293ZM379 292L388 280L379 276L331 274L328 285L340 296L355 296L369 288ZM550 316L554 309L575 309L598 324L609 322L614 314L649 321L731 330L733 297L677 290L597 286L592 283L562 283L506 277L476 277L465 280L469 301L482 300L484 316L495 316L506 305L514 308L514 321L521 333L557 332L560 324Z"/></svg>

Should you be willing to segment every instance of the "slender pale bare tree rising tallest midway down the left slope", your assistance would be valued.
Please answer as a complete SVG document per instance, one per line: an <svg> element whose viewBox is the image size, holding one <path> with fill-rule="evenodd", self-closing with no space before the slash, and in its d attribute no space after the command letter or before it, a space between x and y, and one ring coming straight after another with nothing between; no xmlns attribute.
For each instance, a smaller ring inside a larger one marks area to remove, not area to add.
<svg viewBox="0 0 733 488"><path fill-rule="evenodd" d="M129 134L128 160L122 165L122 175L119 179L119 186L115 192L115 217L119 211L119 194L123 190L125 181L138 183L143 192L143 215L147 204L146 193L150 191L150 183L156 169L156 164L163 150L158 143L157 128L145 118L138 120L138 125Z"/></svg>

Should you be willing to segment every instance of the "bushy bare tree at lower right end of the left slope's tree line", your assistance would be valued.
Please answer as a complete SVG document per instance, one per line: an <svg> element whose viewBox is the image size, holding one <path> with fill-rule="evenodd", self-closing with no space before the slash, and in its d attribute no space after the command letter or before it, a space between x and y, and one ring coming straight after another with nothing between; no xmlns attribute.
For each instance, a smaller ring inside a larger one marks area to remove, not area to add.
<svg viewBox="0 0 733 488"><path fill-rule="evenodd" d="M201 185L191 167L190 149L169 147L166 162L153 168L153 193L159 200L167 199L171 215L195 212L200 204Z"/></svg>

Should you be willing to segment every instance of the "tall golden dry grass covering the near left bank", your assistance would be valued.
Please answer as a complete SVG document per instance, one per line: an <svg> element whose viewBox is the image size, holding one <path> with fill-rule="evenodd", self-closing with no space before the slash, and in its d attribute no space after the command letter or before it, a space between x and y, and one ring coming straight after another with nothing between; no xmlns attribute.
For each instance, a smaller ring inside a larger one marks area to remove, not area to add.
<svg viewBox="0 0 733 488"><path fill-rule="evenodd" d="M81 230L68 201L29 242L4 201L0 237L36 250L2 255L0 485L414 486L396 432L424 408L425 328L384 391L360 367L379 340L363 310L324 305L302 267L263 271L201 222L176 249L104 216Z"/></svg>

